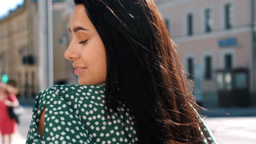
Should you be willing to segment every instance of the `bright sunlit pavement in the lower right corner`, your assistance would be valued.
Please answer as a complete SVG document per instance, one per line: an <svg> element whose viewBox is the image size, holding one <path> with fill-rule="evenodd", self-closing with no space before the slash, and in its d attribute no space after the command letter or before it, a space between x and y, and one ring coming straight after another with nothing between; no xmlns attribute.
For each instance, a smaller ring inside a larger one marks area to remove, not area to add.
<svg viewBox="0 0 256 144"><path fill-rule="evenodd" d="M205 122L220 144L256 143L256 117L207 118Z"/></svg>

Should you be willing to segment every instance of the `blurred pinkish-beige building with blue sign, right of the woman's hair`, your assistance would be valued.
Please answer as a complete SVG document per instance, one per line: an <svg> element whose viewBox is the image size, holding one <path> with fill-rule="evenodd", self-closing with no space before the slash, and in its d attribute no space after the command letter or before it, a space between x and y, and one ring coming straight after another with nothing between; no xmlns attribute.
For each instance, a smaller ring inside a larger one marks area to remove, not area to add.
<svg viewBox="0 0 256 144"><path fill-rule="evenodd" d="M178 55L206 107L253 106L254 0L158 0Z"/></svg>

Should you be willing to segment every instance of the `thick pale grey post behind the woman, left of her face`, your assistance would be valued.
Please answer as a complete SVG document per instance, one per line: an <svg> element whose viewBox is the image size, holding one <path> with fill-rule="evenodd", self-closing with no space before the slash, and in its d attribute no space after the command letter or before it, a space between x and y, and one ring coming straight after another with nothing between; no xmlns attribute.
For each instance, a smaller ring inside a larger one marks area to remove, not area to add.
<svg viewBox="0 0 256 144"><path fill-rule="evenodd" d="M38 0L39 90L53 86L52 0Z"/></svg>

